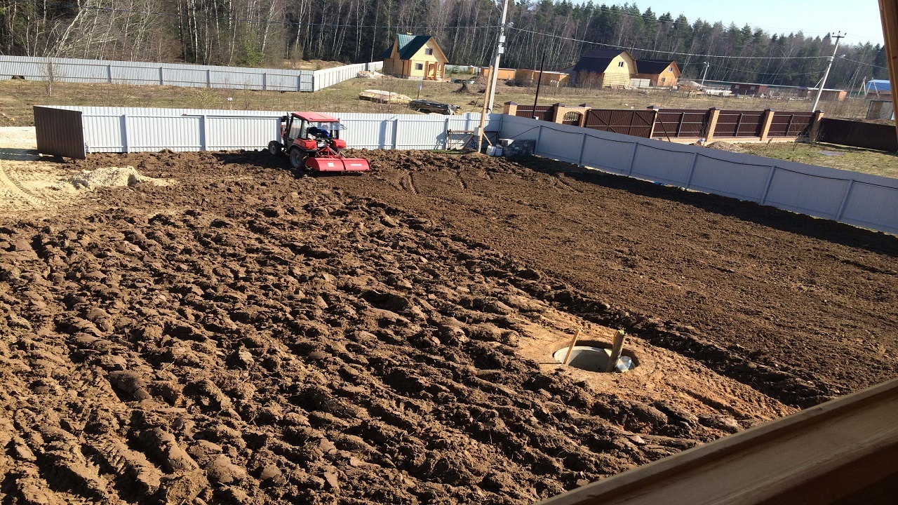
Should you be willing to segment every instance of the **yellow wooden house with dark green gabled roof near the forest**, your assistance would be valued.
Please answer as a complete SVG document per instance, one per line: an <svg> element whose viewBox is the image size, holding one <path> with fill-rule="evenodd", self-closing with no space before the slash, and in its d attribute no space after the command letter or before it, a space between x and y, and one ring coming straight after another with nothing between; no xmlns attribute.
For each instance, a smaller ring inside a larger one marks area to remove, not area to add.
<svg viewBox="0 0 898 505"><path fill-rule="evenodd" d="M383 52L383 73L404 79L442 80L448 59L430 35L398 33Z"/></svg>

